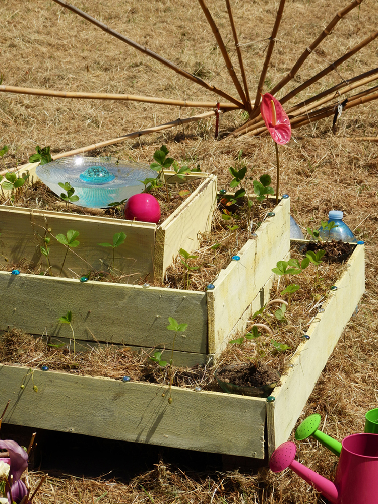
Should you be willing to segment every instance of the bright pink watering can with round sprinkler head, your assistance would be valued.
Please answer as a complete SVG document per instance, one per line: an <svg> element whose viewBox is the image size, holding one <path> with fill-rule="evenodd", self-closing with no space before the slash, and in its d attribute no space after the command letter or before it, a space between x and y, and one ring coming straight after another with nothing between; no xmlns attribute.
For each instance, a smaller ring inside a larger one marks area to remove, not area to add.
<svg viewBox="0 0 378 504"><path fill-rule="evenodd" d="M342 440L335 482L294 460L295 444L280 445L269 462L273 472L290 467L332 504L377 504L378 434L352 434Z"/></svg>

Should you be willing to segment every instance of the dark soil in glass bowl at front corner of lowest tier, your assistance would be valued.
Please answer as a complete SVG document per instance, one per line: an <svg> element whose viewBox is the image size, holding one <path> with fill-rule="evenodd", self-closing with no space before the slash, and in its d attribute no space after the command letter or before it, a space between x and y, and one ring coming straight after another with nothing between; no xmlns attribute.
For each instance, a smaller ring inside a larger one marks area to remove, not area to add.
<svg viewBox="0 0 378 504"><path fill-rule="evenodd" d="M217 380L224 384L232 384L232 386L245 387L245 388L260 388L266 385L275 384L280 379L280 373L272 367L259 362L257 367L253 363L234 364L225 366L217 371ZM220 384L222 387L222 384ZM230 387L229 392L236 392L237 387ZM222 387L223 388L223 387ZM228 388L226 386L226 388ZM273 387L272 387L273 389ZM241 393L248 394L247 391L240 391ZM261 394L250 395L264 395L265 390ZM268 394L269 395L269 392Z"/></svg>

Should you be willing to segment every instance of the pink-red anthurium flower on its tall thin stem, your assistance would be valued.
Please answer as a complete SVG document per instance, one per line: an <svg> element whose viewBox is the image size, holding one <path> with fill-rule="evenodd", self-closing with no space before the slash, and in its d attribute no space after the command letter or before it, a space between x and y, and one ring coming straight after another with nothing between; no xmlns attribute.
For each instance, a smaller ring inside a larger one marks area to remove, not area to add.
<svg viewBox="0 0 378 504"><path fill-rule="evenodd" d="M278 144L284 145L291 138L291 125L287 113L282 108L281 103L270 93L262 95L261 116L265 125L275 142L276 161L277 161L277 185L276 185L276 204L278 203L278 192L280 182L280 163L278 158Z"/></svg>

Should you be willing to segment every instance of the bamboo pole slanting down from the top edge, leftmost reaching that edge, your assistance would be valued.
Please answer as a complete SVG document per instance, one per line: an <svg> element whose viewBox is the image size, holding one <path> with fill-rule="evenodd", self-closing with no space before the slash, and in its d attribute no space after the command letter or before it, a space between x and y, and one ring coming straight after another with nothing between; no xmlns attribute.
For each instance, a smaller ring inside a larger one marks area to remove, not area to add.
<svg viewBox="0 0 378 504"><path fill-rule="evenodd" d="M131 45L135 49L137 49L140 52L143 52L144 54L147 54L147 56L150 56L156 61L159 61L159 63L162 63L166 67L170 68L171 70L174 70L177 74L181 75L182 77L185 77L186 79L189 79L193 82L196 82L200 86L203 86L204 88L208 89L209 91L212 91L213 93L218 94L219 96L222 96L226 100L229 100L231 103L234 103L235 105L238 105L239 108L244 108L244 104L241 103L239 100L236 98L233 98L231 95L225 93L224 91L221 91L220 89L216 88L215 86L208 84L207 82L203 81L199 77L190 74L186 72L185 70L182 70L179 68L177 65L172 63L171 61L168 61L168 59L163 58L159 54L156 54L156 52L151 51L150 49L147 49L147 47L144 47L137 42L134 42L128 37L125 37L124 35L121 35L120 33L116 32L115 30L112 30L109 28L107 25L104 23L101 23L101 21L98 21L97 19L93 18L89 14L81 11L77 7L74 7L71 4L68 4L65 2L65 0L53 0L56 4L59 4L62 7L65 7L66 9L69 9L70 11L74 12L75 14L78 14L82 18L86 19L90 23L94 24L98 28L101 28L104 32L108 33L109 35L112 35L113 37L117 38L118 40L121 40L122 42L127 43L128 45Z"/></svg>

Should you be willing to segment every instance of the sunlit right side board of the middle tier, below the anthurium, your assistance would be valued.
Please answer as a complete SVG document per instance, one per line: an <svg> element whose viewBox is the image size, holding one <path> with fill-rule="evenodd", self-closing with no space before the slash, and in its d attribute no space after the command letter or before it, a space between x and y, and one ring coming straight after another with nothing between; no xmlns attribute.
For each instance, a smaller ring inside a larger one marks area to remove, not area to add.
<svg viewBox="0 0 378 504"><path fill-rule="evenodd" d="M290 199L282 199L274 208L274 217L267 217L238 253L240 261L232 261L213 282L213 312L209 312L209 352L227 345L229 334L241 314L253 302L290 248Z"/></svg>

